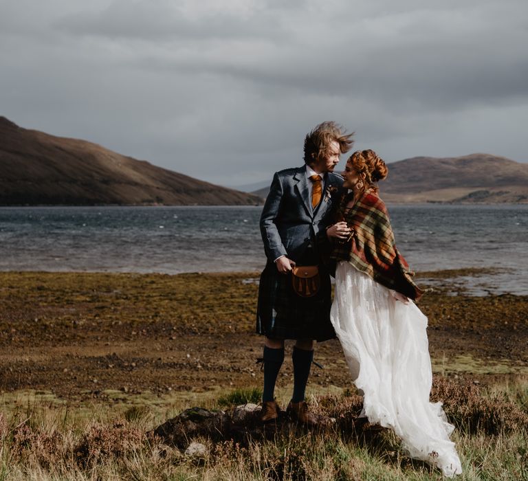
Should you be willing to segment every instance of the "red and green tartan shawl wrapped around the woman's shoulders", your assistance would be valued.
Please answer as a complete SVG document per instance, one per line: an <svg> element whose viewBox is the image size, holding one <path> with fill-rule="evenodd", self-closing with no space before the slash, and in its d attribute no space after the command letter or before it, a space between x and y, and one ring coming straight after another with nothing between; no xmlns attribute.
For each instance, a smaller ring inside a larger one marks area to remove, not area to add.
<svg viewBox="0 0 528 481"><path fill-rule="evenodd" d="M424 291L413 282L414 273L396 248L385 203L377 193L366 191L344 215L344 221L353 229L353 236L347 243L336 242L331 258L347 260L388 289L419 300Z"/></svg>

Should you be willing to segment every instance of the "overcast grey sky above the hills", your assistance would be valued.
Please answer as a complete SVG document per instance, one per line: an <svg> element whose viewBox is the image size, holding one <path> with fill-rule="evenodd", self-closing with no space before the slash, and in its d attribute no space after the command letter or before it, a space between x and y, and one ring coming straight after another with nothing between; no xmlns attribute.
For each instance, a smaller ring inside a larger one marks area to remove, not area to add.
<svg viewBox="0 0 528 481"><path fill-rule="evenodd" d="M0 115L229 186L323 120L528 161L526 0L0 0Z"/></svg>

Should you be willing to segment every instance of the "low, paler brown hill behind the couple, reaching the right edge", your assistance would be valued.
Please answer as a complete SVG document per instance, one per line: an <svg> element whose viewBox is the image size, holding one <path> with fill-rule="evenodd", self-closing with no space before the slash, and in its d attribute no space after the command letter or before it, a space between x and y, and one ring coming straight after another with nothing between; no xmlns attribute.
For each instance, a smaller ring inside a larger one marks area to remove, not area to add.
<svg viewBox="0 0 528 481"><path fill-rule="evenodd" d="M413 157L387 166L380 193L389 202L528 203L528 164L505 157ZM269 190L252 193L266 197Z"/></svg>

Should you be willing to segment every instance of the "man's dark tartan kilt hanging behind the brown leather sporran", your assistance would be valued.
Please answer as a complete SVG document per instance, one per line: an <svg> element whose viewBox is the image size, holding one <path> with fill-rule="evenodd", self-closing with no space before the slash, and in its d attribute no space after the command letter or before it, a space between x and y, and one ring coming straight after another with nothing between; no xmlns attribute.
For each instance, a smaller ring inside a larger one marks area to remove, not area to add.
<svg viewBox="0 0 528 481"><path fill-rule="evenodd" d="M302 298L292 286L292 274L281 274L268 263L261 273L256 333L271 339L316 339L336 337L330 322L331 284L324 267L319 268L321 287L311 298Z"/></svg>

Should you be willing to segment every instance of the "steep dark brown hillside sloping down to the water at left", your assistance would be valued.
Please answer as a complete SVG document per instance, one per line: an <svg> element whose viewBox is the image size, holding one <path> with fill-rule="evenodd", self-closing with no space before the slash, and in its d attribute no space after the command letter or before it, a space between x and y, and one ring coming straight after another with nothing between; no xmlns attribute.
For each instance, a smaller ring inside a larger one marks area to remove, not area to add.
<svg viewBox="0 0 528 481"><path fill-rule="evenodd" d="M0 117L0 205L249 205L214 186L97 144L21 128Z"/></svg>

